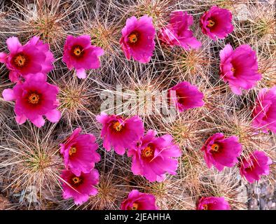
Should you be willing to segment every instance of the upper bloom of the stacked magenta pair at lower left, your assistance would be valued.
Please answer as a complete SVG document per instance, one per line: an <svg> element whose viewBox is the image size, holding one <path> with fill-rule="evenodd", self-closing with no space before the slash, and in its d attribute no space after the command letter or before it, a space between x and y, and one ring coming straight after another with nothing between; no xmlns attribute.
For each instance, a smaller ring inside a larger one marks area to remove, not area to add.
<svg viewBox="0 0 276 224"><path fill-rule="evenodd" d="M88 173L99 162L100 155L96 152L98 145L92 134L80 134L81 127L74 130L64 144L60 144L60 153L64 157L65 167L77 176L81 172Z"/></svg>

